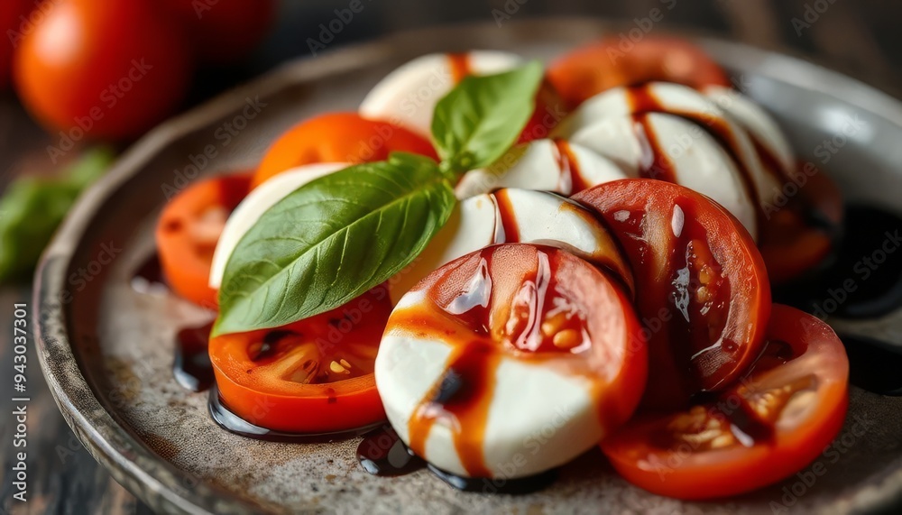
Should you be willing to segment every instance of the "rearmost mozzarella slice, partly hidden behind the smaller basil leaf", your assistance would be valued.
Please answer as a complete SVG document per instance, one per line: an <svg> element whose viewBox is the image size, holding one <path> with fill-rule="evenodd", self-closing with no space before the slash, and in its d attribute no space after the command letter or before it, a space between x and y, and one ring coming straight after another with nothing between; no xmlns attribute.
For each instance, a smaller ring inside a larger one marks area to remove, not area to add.
<svg viewBox="0 0 902 515"><path fill-rule="evenodd" d="M429 139L432 112L466 75L491 75L514 69L522 58L505 51L433 53L395 69L364 97L360 114L400 125Z"/></svg>

